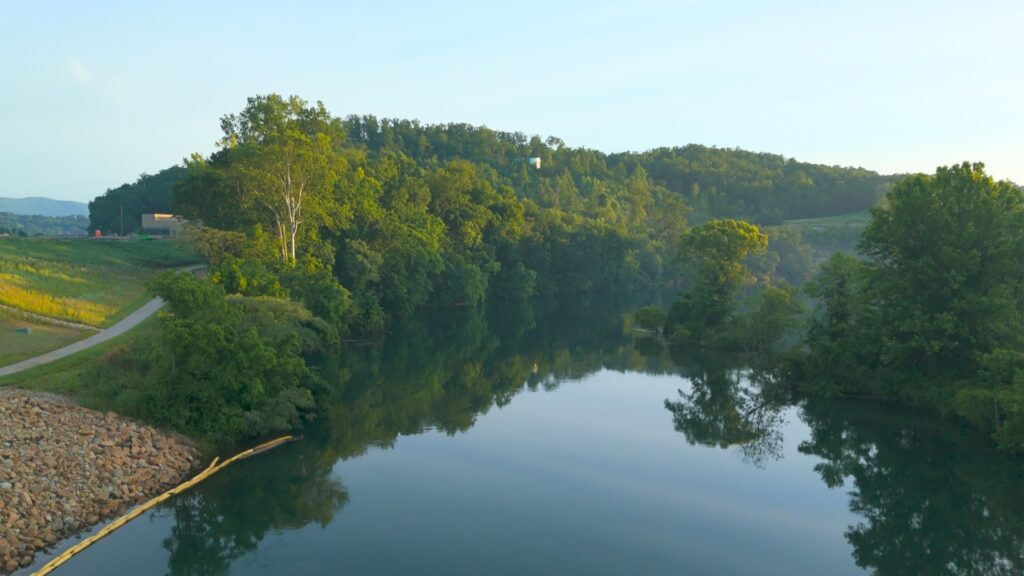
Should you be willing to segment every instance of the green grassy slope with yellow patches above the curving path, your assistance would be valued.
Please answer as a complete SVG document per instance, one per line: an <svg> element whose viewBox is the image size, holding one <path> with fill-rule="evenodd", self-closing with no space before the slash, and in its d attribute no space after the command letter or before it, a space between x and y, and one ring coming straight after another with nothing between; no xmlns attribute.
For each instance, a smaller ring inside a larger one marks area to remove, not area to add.
<svg viewBox="0 0 1024 576"><path fill-rule="evenodd" d="M0 238L0 303L105 327L145 302L162 270L198 261L183 241Z"/></svg>

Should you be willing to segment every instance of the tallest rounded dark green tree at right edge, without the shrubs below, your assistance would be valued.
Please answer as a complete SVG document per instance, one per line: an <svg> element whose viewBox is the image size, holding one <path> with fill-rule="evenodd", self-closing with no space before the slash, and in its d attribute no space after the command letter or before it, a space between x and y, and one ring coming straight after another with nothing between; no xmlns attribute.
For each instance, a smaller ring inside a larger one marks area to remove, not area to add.
<svg viewBox="0 0 1024 576"><path fill-rule="evenodd" d="M882 362L970 377L982 357L1024 344L1024 194L982 164L897 183L871 210L861 251L879 311Z"/></svg>

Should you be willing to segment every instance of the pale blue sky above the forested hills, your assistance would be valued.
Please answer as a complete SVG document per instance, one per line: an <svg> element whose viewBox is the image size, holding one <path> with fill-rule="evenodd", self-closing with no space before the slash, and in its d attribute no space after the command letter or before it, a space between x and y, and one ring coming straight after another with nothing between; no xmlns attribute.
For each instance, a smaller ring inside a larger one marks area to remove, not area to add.
<svg viewBox="0 0 1024 576"><path fill-rule="evenodd" d="M210 154L270 92L604 152L970 160L1024 183L1022 33L1021 0L0 0L0 197L88 201Z"/></svg>

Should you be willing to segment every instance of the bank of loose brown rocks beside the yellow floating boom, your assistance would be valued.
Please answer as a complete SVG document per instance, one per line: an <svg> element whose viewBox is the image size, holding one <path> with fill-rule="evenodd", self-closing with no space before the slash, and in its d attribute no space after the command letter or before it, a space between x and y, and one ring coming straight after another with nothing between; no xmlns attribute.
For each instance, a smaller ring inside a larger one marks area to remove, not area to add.
<svg viewBox="0 0 1024 576"><path fill-rule="evenodd" d="M0 389L0 573L184 480L180 438L48 394Z"/></svg>

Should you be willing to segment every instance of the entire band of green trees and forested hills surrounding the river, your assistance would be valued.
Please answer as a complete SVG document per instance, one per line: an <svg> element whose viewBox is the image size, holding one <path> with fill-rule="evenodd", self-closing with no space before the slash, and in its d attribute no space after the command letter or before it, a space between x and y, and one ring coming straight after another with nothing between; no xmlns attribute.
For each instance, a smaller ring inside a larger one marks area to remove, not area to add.
<svg viewBox="0 0 1024 576"><path fill-rule="evenodd" d="M425 307L670 288L637 317L654 345L1024 446L1021 191L980 165L899 179L697 146L605 155L278 95L221 128L209 157L90 204L99 222L170 202L211 264L158 282L162 341L95 376L150 382L155 421L216 442L297 425L327 394L317 356Z"/></svg>

